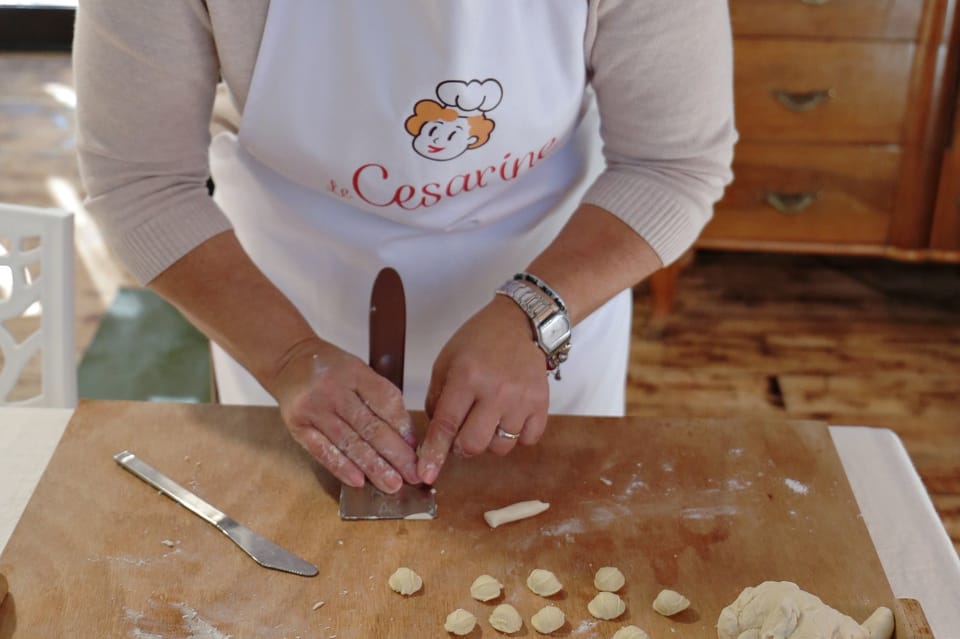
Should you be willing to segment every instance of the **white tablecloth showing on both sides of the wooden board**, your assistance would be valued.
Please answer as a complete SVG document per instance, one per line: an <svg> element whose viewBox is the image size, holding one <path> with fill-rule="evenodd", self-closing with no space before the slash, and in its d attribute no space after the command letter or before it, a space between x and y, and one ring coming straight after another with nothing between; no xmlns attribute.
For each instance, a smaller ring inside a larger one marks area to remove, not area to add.
<svg viewBox="0 0 960 639"><path fill-rule="evenodd" d="M0 551L71 414L0 408ZM893 594L920 601L937 639L960 639L960 558L900 439L862 426L830 433Z"/></svg>

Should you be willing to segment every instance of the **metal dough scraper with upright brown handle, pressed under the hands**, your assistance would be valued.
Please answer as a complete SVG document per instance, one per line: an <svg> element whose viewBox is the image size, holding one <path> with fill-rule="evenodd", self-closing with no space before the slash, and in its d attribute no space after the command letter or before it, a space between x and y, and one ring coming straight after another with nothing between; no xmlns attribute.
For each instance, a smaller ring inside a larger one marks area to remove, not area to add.
<svg viewBox="0 0 960 639"><path fill-rule="evenodd" d="M403 390L403 353L407 336L407 305L400 274L385 268L370 295L370 367ZM362 488L340 487L341 519L433 519L435 491L404 484L388 495L367 481Z"/></svg>

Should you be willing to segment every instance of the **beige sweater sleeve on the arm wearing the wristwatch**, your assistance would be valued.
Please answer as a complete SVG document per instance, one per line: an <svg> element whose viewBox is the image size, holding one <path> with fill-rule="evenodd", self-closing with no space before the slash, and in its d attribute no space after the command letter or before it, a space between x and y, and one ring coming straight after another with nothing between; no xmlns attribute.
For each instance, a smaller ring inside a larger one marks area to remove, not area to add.
<svg viewBox="0 0 960 639"><path fill-rule="evenodd" d="M639 233L664 265L730 183L736 131L725 0L597 0L588 71L607 168L584 201Z"/></svg>

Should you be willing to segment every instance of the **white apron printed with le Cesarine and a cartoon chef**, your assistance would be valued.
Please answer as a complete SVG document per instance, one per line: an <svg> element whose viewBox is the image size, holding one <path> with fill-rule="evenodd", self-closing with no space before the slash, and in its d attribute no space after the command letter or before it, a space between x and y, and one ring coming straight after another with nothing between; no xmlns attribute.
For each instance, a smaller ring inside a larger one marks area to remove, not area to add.
<svg viewBox="0 0 960 639"><path fill-rule="evenodd" d="M317 334L362 359L374 277L397 269L408 408L602 168L586 13L585 0L270 3L239 134L211 145L216 201ZM623 414L630 307L624 291L574 327L551 412ZM224 403L273 403L216 346L214 365Z"/></svg>

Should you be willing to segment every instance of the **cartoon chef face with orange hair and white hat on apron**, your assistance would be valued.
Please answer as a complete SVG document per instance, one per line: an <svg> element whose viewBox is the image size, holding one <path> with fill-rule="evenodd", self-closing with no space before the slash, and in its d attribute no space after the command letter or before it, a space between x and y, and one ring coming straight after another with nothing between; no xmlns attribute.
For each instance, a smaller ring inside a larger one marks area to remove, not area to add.
<svg viewBox="0 0 960 639"><path fill-rule="evenodd" d="M405 123L413 150L428 160L452 160L483 146L496 125L487 117L503 98L493 78L448 80L437 85L438 100L420 100Z"/></svg>

